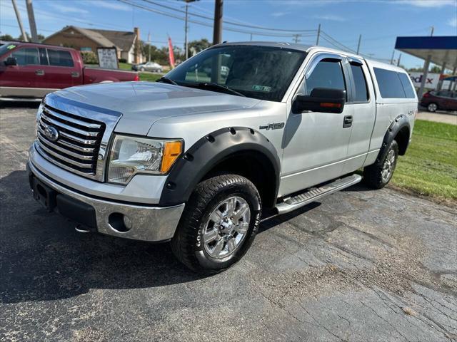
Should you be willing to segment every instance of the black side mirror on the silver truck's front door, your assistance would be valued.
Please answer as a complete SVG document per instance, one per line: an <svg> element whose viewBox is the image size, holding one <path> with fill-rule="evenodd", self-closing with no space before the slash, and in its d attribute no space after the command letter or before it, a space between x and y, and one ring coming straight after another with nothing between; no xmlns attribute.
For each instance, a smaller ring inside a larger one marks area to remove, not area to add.
<svg viewBox="0 0 457 342"><path fill-rule="evenodd" d="M293 101L293 113L304 110L323 113L343 113L346 103L346 90L331 88L314 88L310 95L297 95Z"/></svg>

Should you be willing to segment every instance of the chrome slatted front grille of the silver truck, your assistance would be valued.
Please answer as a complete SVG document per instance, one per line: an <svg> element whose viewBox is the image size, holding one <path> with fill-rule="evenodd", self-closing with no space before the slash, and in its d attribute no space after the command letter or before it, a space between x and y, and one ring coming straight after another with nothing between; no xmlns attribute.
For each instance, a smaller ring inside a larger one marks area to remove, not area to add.
<svg viewBox="0 0 457 342"><path fill-rule="evenodd" d="M66 170L96 178L105 124L49 105L41 108L36 139L40 154ZM52 128L58 133L56 139L49 134Z"/></svg>

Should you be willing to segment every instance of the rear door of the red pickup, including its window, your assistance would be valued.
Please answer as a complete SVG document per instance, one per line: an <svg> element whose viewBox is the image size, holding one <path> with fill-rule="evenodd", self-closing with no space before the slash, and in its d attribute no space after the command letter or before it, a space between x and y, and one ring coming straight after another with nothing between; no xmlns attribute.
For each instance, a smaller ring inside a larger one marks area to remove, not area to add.
<svg viewBox="0 0 457 342"><path fill-rule="evenodd" d="M71 52L59 48L46 48L48 65L42 66L41 88L63 89L82 83L81 68L76 65Z"/></svg>

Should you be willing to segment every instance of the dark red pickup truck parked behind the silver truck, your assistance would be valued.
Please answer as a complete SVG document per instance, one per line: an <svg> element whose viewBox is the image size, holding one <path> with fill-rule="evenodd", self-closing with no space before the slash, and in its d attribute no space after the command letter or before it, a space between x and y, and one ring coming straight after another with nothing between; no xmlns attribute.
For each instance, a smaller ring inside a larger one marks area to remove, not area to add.
<svg viewBox="0 0 457 342"><path fill-rule="evenodd" d="M119 81L139 81L139 76L85 67L74 48L21 42L0 46L0 100L42 98L71 86Z"/></svg>

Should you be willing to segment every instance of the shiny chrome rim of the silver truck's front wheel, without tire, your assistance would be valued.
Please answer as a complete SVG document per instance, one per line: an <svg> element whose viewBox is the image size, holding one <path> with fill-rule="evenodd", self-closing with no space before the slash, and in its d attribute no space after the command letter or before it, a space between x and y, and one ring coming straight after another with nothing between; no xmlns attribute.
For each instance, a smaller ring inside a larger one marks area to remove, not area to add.
<svg viewBox="0 0 457 342"><path fill-rule="evenodd" d="M229 197L217 204L204 224L206 253L215 259L222 259L236 252L246 237L249 222L251 209L242 197Z"/></svg>

